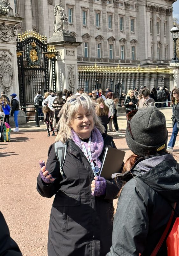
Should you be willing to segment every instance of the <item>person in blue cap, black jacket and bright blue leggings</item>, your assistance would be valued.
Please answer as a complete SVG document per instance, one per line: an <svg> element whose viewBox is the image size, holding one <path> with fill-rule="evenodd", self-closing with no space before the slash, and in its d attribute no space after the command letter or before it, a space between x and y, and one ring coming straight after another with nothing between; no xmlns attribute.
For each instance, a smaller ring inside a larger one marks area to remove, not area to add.
<svg viewBox="0 0 179 256"><path fill-rule="evenodd" d="M19 132L19 125L18 125L18 113L19 113L19 106L20 106L20 102L19 99L17 97L16 93L12 93L11 94L11 116L14 115L14 123L16 125L16 128L13 129L13 132Z"/></svg>

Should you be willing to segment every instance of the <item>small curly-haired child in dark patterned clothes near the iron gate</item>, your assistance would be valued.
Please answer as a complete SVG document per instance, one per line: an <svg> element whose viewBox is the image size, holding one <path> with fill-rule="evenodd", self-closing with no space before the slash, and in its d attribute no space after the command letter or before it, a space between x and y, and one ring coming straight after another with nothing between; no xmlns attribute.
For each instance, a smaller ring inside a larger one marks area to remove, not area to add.
<svg viewBox="0 0 179 256"><path fill-rule="evenodd" d="M47 125L47 136L50 136L50 131L52 131L52 136L55 136L53 127L54 111L51 110L48 106L45 106L42 108L42 112L44 113L44 124Z"/></svg>

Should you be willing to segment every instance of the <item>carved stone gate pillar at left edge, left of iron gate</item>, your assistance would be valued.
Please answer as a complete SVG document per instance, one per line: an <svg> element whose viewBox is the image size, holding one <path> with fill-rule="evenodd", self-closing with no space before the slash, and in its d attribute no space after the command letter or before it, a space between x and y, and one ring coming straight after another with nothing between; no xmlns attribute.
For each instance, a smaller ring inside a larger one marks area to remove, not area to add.
<svg viewBox="0 0 179 256"><path fill-rule="evenodd" d="M7 96L16 93L18 88L18 65L16 53L17 27L23 18L0 15L0 90Z"/></svg>

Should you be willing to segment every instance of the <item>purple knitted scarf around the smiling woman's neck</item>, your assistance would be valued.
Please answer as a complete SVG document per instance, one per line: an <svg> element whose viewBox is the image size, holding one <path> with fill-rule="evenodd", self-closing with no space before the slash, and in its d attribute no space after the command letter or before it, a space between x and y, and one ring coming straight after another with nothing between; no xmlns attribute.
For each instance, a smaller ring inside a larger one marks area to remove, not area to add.
<svg viewBox="0 0 179 256"><path fill-rule="evenodd" d="M84 153L80 138L78 137L78 135L76 134L76 132L73 129L71 129L71 131L72 131L72 140L75 142L75 144L79 148L81 148L82 152ZM86 148L86 151L88 152L88 143L84 142L84 141L83 141L83 143ZM101 133L99 132L99 130L96 127L94 127L91 132L91 156L92 156L93 161L99 168L101 167L101 161L99 160L99 156L102 153L103 147L104 147L103 137L102 137Z"/></svg>

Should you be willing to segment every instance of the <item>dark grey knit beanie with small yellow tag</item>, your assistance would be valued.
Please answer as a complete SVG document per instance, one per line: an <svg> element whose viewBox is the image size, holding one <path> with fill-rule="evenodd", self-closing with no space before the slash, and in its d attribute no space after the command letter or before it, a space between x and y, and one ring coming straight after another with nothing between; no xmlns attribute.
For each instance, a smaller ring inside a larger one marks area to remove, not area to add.
<svg viewBox="0 0 179 256"><path fill-rule="evenodd" d="M168 131L163 113L156 107L139 109L129 121L125 139L130 150L137 156L162 153L167 148ZM131 134L132 133L132 134ZM133 137L133 138L132 138Z"/></svg>

